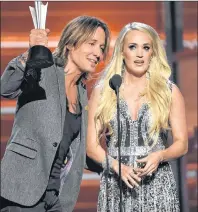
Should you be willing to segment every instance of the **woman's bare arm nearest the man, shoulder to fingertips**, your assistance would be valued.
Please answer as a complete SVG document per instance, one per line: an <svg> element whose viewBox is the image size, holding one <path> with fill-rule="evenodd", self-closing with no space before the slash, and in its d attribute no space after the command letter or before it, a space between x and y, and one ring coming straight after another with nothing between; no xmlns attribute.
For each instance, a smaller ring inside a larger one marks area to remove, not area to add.
<svg viewBox="0 0 198 212"><path fill-rule="evenodd" d="M94 121L94 116L96 114L96 109L98 107L98 102L100 100L100 88L95 88L92 92L90 101L89 101L89 109L88 109L88 132L87 132L87 155L100 164L104 164L106 162L106 157L108 159L107 153L102 148L99 143L99 138L96 125ZM98 132L102 132L102 126L100 123L98 124ZM112 168L117 174L118 171L118 161L111 158L110 168ZM133 172L133 168L129 166L125 166L122 164L121 166L122 180L126 183L127 186L132 188L131 185L138 186L137 182L140 182L140 178Z"/></svg>

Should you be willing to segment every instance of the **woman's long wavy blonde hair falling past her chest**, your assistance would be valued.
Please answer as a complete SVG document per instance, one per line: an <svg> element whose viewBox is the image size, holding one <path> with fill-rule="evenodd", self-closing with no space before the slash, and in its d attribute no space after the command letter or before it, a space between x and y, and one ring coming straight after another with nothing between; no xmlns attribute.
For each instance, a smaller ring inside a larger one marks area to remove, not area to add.
<svg viewBox="0 0 198 212"><path fill-rule="evenodd" d="M152 146L157 142L161 129L169 129L168 118L171 105L171 90L168 86L168 79L171 75L171 69L167 62L167 57L163 44L157 32L149 25L143 23L129 23L120 32L114 47L113 56L109 65L104 69L100 79L102 84L101 100L95 115L95 123L102 124L103 129L112 132L110 120L116 111L116 95L109 87L109 80L114 74L121 75L123 66L123 42L130 30L144 32L152 39L152 59L148 68L149 80L145 93L149 102L149 108L152 114L152 124L149 130L149 139L153 140ZM148 143L147 143L148 144Z"/></svg>

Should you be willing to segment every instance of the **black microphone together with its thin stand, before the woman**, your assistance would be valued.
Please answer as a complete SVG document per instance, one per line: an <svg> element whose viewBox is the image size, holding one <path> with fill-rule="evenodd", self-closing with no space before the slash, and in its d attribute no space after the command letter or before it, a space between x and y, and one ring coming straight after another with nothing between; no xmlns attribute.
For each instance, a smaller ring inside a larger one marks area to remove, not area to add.
<svg viewBox="0 0 198 212"><path fill-rule="evenodd" d="M119 161L119 187L120 187L120 212L124 211L122 203L122 178L121 178L121 130L120 130L120 106L119 106L119 87L122 84L122 78L119 74L114 74L109 80L109 86L117 95L117 136L118 136L118 161Z"/></svg>

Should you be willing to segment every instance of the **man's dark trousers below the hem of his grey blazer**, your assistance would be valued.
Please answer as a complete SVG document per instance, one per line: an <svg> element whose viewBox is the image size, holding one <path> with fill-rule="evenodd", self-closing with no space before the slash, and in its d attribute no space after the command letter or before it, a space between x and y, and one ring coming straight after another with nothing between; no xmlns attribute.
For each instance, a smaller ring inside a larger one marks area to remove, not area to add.
<svg viewBox="0 0 198 212"><path fill-rule="evenodd" d="M1 197L1 212L62 212L62 209L56 192L46 191L41 200L30 207L10 202Z"/></svg>

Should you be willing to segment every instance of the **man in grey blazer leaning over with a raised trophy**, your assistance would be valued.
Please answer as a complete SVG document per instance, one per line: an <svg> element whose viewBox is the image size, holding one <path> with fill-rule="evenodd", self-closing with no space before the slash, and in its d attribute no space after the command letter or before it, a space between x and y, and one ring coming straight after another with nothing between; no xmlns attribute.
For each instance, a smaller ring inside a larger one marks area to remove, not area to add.
<svg viewBox="0 0 198 212"><path fill-rule="evenodd" d="M43 5L35 5L33 21L42 20ZM86 159L84 80L105 58L109 30L95 17L77 17L63 29L53 56L48 33L31 30L30 49L11 60L1 77L1 95L18 98L1 161L2 212L71 212L80 190Z"/></svg>

